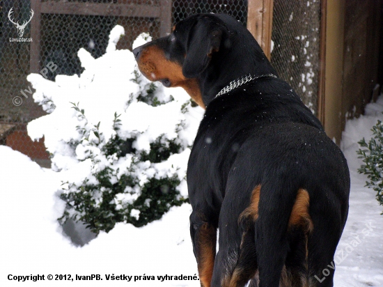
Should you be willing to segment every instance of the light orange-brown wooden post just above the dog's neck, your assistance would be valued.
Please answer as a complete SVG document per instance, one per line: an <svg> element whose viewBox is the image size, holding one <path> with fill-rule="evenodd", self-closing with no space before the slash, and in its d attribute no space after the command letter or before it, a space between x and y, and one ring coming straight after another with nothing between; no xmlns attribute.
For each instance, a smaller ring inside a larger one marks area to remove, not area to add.
<svg viewBox="0 0 383 287"><path fill-rule="evenodd" d="M247 29L268 59L271 55L273 3L273 0L249 0L247 8Z"/></svg>

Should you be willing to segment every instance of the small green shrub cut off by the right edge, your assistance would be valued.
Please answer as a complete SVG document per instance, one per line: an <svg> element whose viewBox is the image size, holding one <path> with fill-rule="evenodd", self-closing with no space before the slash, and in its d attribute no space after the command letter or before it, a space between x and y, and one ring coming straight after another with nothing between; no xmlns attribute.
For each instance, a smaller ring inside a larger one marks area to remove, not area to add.
<svg viewBox="0 0 383 287"><path fill-rule="evenodd" d="M377 201L383 205L383 123L378 120L373 126L373 137L366 142L361 139L359 145L361 148L357 150L359 158L363 159L365 164L358 169L359 173L364 173L370 181L366 182L366 186L371 187L377 192ZM382 213L383 214L383 213Z"/></svg>

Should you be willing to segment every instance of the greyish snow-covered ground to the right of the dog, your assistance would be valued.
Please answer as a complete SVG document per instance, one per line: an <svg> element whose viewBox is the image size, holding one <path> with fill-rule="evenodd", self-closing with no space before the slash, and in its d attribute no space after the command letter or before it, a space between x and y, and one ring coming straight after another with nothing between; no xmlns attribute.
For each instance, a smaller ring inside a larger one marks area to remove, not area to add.
<svg viewBox="0 0 383 287"><path fill-rule="evenodd" d="M382 121L383 97L368 104L366 115L347 121L341 148L350 168L350 212L335 261L335 286L383 286L383 206L375 199L375 191L364 187L366 176L357 172L362 161L355 150L357 141L370 139L370 129Z"/></svg>

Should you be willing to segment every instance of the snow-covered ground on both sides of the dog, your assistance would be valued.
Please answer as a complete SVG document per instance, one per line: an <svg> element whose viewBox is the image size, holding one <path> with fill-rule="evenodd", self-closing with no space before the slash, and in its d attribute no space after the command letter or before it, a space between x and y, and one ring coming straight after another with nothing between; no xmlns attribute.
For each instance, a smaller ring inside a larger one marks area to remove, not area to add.
<svg viewBox="0 0 383 287"><path fill-rule="evenodd" d="M350 213L335 259L336 287L383 286L383 207L373 189L364 187L366 178L357 173L361 160L355 153L357 141L370 137L370 127L383 118L381 111L383 98L368 105L366 116L348 121L343 133L352 188ZM198 280L174 280L181 274L190 279L197 274L189 238L190 205L173 208L143 228L117 224L88 245L75 247L56 222L63 209L55 196L56 173L6 146L0 146L0 159L0 286L199 286ZM16 276L37 274L45 275L45 281L15 281ZM52 281L47 280L49 274ZM74 280L55 280L56 274ZM102 281L76 280L76 275L91 274L99 274ZM132 281L111 281L121 274L126 279L132 276ZM173 280L157 278L166 274ZM144 280L148 277L155 281Z"/></svg>

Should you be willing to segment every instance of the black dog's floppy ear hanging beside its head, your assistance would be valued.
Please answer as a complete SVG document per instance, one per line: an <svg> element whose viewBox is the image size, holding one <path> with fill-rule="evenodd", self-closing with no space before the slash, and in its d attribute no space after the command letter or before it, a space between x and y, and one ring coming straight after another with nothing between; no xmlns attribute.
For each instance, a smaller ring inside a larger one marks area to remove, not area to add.
<svg viewBox="0 0 383 287"><path fill-rule="evenodd" d="M195 78L209 65L212 54L219 51L222 28L217 24L199 20L189 32L185 61L182 73L187 78Z"/></svg>

